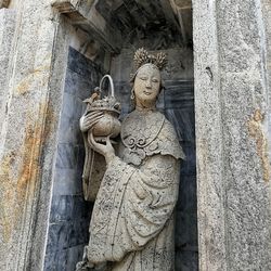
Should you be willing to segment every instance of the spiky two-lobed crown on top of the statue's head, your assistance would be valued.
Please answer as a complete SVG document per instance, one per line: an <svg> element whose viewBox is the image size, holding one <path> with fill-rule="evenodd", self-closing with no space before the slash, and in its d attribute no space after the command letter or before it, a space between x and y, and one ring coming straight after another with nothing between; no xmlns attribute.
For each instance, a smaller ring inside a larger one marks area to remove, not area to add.
<svg viewBox="0 0 271 271"><path fill-rule="evenodd" d="M156 55L150 54L144 48L140 48L136 51L133 56L136 68L139 69L144 64L154 64L162 70L167 65L167 55L164 52L159 52Z"/></svg>

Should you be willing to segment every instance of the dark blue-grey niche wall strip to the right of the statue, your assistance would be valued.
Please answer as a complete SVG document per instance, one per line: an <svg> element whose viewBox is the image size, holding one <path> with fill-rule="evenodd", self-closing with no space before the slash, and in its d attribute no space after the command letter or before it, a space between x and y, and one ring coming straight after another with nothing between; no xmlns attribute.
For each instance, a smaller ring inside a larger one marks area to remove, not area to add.
<svg viewBox="0 0 271 271"><path fill-rule="evenodd" d="M186 159L181 164L176 207L176 270L198 270L194 82L166 80L165 115L175 126Z"/></svg>

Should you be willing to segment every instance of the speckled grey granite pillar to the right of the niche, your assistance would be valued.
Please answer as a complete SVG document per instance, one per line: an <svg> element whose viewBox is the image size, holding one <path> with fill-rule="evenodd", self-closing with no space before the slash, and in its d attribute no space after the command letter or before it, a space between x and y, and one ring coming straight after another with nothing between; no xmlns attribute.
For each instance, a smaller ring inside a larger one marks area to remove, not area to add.
<svg viewBox="0 0 271 271"><path fill-rule="evenodd" d="M199 268L269 270L267 120L255 118L267 114L261 7L193 7Z"/></svg>

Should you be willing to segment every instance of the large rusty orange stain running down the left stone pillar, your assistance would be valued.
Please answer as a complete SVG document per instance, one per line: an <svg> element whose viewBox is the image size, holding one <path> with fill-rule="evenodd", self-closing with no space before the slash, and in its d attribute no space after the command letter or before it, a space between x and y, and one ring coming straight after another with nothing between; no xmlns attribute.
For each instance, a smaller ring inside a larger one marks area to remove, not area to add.
<svg viewBox="0 0 271 271"><path fill-rule="evenodd" d="M33 115L31 112L27 117L24 142L20 150L11 152L0 163L0 230L5 243L10 241L13 229L22 223L26 202L31 202L35 197L40 173L40 154L51 132L50 127L44 127L44 121L54 122L53 113L44 104L40 104L35 124L30 120ZM16 160L21 165L17 175L13 166Z"/></svg>

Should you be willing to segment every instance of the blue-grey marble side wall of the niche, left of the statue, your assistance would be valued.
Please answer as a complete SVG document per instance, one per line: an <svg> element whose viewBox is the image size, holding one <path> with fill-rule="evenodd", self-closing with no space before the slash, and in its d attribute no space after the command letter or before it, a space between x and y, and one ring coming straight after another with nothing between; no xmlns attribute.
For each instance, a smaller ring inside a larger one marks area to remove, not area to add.
<svg viewBox="0 0 271 271"><path fill-rule="evenodd" d="M88 243L92 204L85 202L81 175L85 147L79 118L94 87L100 66L69 48L53 175L53 192L44 269L74 270Z"/></svg>

